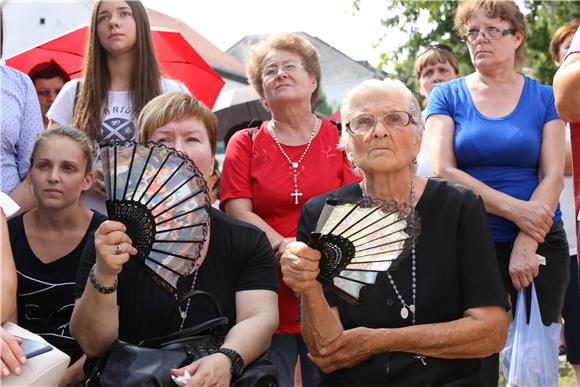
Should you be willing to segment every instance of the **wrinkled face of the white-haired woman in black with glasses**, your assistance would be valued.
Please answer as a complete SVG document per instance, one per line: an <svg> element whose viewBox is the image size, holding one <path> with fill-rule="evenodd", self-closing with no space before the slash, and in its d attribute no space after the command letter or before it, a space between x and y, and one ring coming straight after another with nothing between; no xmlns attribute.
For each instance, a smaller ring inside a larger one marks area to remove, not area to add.
<svg viewBox="0 0 580 387"><path fill-rule="evenodd" d="M408 121L405 98L397 94L370 93L357 98L348 122L357 117L373 117L374 129L366 133L349 132L348 153L365 174L389 173L408 169L421 148L421 134Z"/></svg>

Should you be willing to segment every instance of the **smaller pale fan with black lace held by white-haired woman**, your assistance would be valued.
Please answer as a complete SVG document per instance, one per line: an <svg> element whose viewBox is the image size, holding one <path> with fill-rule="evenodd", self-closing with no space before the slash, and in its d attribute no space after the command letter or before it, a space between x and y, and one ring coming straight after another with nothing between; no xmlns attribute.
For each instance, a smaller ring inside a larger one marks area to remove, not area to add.
<svg viewBox="0 0 580 387"><path fill-rule="evenodd" d="M393 269L418 234L409 207L366 197L329 198L308 243L321 254L317 279L345 301L360 304L364 287Z"/></svg>

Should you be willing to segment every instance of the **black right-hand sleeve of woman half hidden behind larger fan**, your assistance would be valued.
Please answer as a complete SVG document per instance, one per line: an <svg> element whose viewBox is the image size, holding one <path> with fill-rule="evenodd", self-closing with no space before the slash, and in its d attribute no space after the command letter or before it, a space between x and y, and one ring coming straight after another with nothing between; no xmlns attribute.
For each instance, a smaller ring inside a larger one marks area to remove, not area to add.
<svg viewBox="0 0 580 387"><path fill-rule="evenodd" d="M246 233L246 238L239 238L245 243L240 247L247 253L236 291L264 289L278 292L276 258L266 234L257 228L248 228Z"/></svg>

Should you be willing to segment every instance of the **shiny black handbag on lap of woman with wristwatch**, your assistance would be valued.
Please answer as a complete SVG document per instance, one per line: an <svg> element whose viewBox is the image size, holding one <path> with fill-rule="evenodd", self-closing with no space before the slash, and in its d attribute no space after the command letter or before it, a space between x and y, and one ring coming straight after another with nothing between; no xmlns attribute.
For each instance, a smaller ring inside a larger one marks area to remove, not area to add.
<svg viewBox="0 0 580 387"><path fill-rule="evenodd" d="M167 336L144 340L139 345L115 340L105 355L99 358L86 386L175 387L170 370L215 353L228 331L228 318L223 315L213 295L193 290L181 299L200 296L212 302L219 317ZM276 387L276 368L263 354L248 364L230 386Z"/></svg>

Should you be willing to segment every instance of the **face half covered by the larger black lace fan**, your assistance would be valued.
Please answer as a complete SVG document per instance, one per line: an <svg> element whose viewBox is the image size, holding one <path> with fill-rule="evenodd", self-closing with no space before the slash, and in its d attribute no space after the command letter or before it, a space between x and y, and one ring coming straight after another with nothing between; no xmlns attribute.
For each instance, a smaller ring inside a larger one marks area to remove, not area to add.
<svg viewBox="0 0 580 387"><path fill-rule="evenodd" d="M165 144L189 157L207 181L213 173L214 155L211 153L207 128L197 118L171 121L155 129L151 141Z"/></svg>

